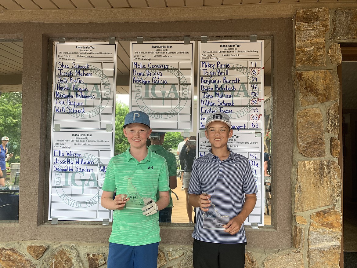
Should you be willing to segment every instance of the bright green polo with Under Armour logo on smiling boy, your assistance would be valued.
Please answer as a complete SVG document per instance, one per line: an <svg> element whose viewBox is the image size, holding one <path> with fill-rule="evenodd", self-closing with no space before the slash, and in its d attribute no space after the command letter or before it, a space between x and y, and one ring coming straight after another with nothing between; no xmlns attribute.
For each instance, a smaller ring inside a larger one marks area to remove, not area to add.
<svg viewBox="0 0 357 268"><path fill-rule="evenodd" d="M152 152L138 162L129 152L111 158L105 173L102 189L107 192L129 194L134 186L140 197L151 197L156 201L157 191L169 190L169 171L165 158ZM128 180L131 178L131 180ZM124 245L147 245L159 242L159 213L145 216L141 209L114 210L113 226L109 242Z"/></svg>

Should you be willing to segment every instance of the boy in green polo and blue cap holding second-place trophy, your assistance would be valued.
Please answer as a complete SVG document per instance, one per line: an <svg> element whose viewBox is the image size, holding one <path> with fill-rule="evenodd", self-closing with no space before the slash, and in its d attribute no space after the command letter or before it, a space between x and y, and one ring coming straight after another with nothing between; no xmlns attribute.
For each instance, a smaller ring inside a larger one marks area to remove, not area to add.
<svg viewBox="0 0 357 268"><path fill-rule="evenodd" d="M157 212L169 204L167 164L146 146L151 133L146 113L128 113L123 131L130 147L109 161L102 187L102 207L114 210L107 267L156 268L161 240Z"/></svg>

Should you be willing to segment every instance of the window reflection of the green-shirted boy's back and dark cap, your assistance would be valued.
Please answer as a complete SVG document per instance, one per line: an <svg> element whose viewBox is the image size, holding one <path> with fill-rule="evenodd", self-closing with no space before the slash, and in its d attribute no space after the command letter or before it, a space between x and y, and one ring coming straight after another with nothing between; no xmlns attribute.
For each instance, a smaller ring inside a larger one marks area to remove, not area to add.
<svg viewBox="0 0 357 268"><path fill-rule="evenodd" d="M165 132L151 132L149 136L151 145L149 148L152 152L161 155L165 158L167 167L169 168L169 197L170 203L169 205L161 209L159 211L160 218L159 222L171 222L171 215L172 215L172 197L171 197L171 189L175 189L177 187L177 166L176 166L176 157L174 154L170 153L168 150L162 146L165 140ZM156 195L156 199L159 199L158 194Z"/></svg>

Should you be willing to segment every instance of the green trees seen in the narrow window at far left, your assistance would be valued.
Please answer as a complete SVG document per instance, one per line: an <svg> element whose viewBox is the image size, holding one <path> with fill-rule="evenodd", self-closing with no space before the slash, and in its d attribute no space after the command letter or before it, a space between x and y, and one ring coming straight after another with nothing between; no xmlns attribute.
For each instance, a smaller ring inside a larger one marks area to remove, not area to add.
<svg viewBox="0 0 357 268"><path fill-rule="evenodd" d="M22 92L6 92L0 95L0 136L10 139L9 153L14 153L10 163L20 162Z"/></svg>

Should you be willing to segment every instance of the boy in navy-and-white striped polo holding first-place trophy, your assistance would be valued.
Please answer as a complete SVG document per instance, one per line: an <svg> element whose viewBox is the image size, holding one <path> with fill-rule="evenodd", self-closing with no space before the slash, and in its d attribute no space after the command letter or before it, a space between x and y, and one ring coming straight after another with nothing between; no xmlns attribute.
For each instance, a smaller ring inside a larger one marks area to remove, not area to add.
<svg viewBox="0 0 357 268"><path fill-rule="evenodd" d="M193 266L244 268L247 244L244 221L257 200L253 170L246 157L227 147L233 135L227 114L209 115L205 134L212 148L193 161L188 187L188 202L200 208L192 233ZM203 229L203 213L209 210L211 202L220 215L229 216L223 230Z"/></svg>

